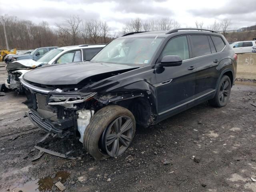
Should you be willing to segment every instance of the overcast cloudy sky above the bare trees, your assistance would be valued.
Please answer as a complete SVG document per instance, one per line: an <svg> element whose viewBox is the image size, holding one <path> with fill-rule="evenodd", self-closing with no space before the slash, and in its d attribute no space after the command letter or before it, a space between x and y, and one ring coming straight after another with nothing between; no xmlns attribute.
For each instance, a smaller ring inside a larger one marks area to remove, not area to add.
<svg viewBox="0 0 256 192"><path fill-rule="evenodd" d="M231 19L230 29L256 24L256 0L0 0L0 15L14 15L36 24L46 21L50 26L63 22L70 15L82 19L102 19L111 31L136 17L142 19L169 17L181 27L204 28L214 20Z"/></svg>

